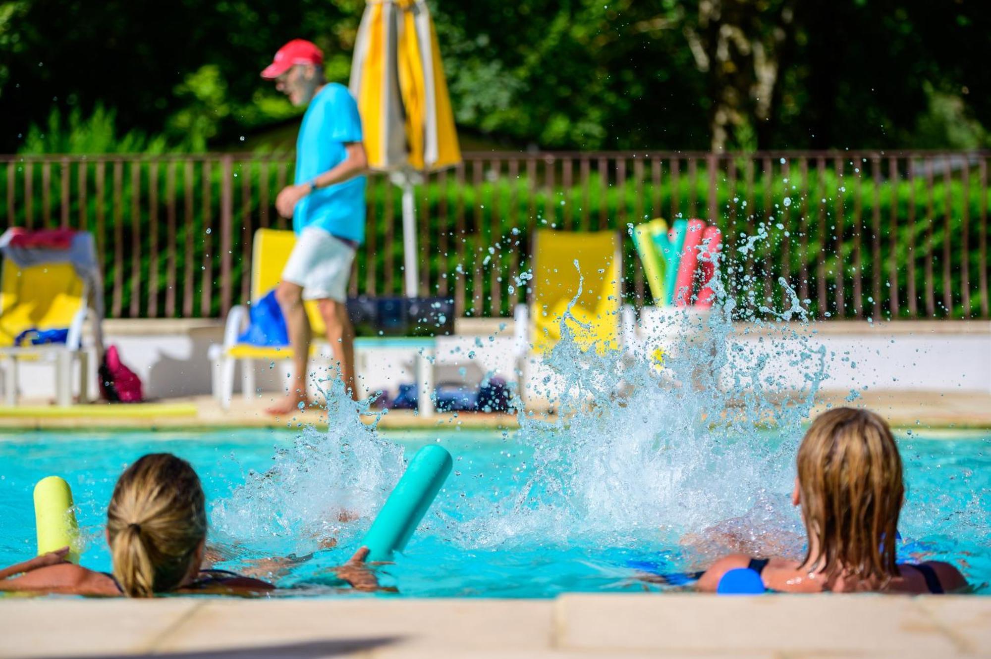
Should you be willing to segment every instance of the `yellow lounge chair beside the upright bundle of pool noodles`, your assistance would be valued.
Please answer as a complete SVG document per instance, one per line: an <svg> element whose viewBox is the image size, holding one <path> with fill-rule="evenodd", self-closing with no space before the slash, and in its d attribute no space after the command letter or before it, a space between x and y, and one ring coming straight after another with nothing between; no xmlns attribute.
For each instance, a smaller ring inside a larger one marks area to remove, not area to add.
<svg viewBox="0 0 991 659"><path fill-rule="evenodd" d="M526 364L561 339L562 325L583 349L629 345L634 317L622 306L622 256L616 232L558 232L533 235L529 307L515 309L519 394L523 398ZM581 295L579 290L581 289Z"/></svg>

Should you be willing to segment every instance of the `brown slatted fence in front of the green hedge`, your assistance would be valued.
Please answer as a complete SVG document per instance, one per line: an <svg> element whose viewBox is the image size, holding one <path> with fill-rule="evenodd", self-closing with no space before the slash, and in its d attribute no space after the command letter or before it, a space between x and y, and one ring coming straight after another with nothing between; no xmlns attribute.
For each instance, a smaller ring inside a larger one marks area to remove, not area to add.
<svg viewBox="0 0 991 659"><path fill-rule="evenodd" d="M818 317L989 318L987 151L466 153L416 189L421 294L507 316L537 227L619 230L624 294L649 303L626 231L653 217L723 232L730 293ZM291 154L0 156L5 226L86 229L112 318L217 317L248 298L251 240ZM399 193L368 188L352 294L401 293ZM754 249L739 250L758 236Z"/></svg>

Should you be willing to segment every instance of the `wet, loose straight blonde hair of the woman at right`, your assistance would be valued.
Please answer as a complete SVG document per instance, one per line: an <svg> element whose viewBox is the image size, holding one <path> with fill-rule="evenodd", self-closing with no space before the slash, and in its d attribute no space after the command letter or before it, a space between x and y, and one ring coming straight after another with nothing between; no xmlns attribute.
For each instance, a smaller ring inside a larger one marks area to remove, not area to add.
<svg viewBox="0 0 991 659"><path fill-rule="evenodd" d="M895 534L905 486L888 424L867 410L820 415L799 447L798 476L809 533L806 566L830 580L845 572L882 586L897 576Z"/></svg>

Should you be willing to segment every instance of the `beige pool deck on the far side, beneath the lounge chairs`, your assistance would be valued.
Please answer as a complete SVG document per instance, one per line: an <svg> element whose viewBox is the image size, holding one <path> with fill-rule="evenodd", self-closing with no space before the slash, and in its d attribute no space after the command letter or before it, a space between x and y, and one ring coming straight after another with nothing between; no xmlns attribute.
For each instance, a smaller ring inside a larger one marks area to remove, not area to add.
<svg viewBox="0 0 991 659"><path fill-rule="evenodd" d="M813 414L826 410L826 406L851 405L866 407L885 417L892 425L918 428L991 428L991 394L944 393L918 391L868 390L861 392L852 402L847 402L849 391L824 391L817 397ZM273 395L245 401L237 397L230 410L222 410L209 396L168 399L141 405L76 405L57 408L45 401L25 401L14 407L0 407L0 431L8 429L64 429L64 428L221 428L221 427L295 427L327 426L327 417L321 409L311 408L293 413L289 418L267 415L265 409L272 405ZM534 411L538 418L545 413ZM373 423L374 415L366 417ZM380 427L386 429L442 428L515 428L515 415L508 414L437 414L423 417L410 410L391 410L382 417Z"/></svg>

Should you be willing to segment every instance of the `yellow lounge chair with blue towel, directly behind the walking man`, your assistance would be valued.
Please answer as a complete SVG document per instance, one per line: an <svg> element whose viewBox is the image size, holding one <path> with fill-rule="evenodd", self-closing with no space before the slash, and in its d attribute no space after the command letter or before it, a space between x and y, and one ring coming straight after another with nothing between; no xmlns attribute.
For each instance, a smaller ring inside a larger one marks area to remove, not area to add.
<svg viewBox="0 0 991 659"><path fill-rule="evenodd" d="M296 243L296 235L290 231L276 229L259 229L255 232L251 262L251 299L258 302L266 293L278 285L282 269L289 259L289 253ZM325 349L329 358L329 346L326 341L318 344L319 337L326 333L323 318L317 310L315 300L304 303L310 327L313 329L313 342L310 344L310 354L323 354ZM236 305L227 314L224 328L223 345L210 346L209 357L213 363L213 396L225 410L230 406L234 395L234 367L241 363L242 393L246 400L255 394L255 362L264 360L269 363L292 358L292 348L288 346L254 345L239 343L238 336L248 329L248 307Z"/></svg>

